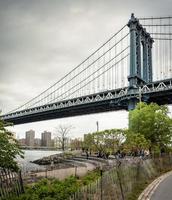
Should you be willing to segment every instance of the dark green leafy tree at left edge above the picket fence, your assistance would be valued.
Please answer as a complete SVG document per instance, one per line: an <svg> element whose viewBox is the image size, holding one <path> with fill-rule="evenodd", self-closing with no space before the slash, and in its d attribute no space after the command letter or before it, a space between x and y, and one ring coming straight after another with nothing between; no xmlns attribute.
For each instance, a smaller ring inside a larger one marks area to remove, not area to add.
<svg viewBox="0 0 172 200"><path fill-rule="evenodd" d="M23 157L23 152L13 134L5 126L7 124L0 119L0 167L14 171L19 169L16 156Z"/></svg>

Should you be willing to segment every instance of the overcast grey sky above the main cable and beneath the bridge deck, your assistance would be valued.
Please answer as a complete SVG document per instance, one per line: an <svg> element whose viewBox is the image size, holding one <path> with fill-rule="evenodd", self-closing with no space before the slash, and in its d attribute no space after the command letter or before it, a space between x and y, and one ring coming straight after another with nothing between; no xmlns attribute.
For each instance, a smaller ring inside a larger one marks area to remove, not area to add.
<svg viewBox="0 0 172 200"><path fill-rule="evenodd" d="M0 109L18 107L58 81L84 60L134 12L136 17L172 15L171 0L0 0ZM18 125L54 131L71 124L73 136L127 127L125 111Z"/></svg>

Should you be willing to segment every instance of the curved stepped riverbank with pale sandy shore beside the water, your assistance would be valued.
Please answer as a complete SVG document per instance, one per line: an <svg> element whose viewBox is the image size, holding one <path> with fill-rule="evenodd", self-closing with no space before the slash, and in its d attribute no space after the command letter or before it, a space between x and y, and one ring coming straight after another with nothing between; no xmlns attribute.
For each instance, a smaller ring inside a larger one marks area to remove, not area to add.
<svg viewBox="0 0 172 200"><path fill-rule="evenodd" d="M36 164L45 164L43 170L31 171L23 174L25 183L36 182L42 178L58 178L63 180L71 175L82 177L89 171L93 171L100 166L107 166L109 162L97 157L87 157L79 152L63 153L33 161ZM53 165L52 165L53 163Z"/></svg>

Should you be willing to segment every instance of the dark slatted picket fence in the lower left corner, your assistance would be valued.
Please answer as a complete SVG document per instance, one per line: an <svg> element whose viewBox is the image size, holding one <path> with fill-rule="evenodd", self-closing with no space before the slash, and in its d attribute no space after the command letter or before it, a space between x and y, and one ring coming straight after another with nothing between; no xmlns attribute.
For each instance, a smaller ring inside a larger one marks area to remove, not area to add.
<svg viewBox="0 0 172 200"><path fill-rule="evenodd" d="M12 172L0 168L0 200L11 196L19 196L24 192L21 172Z"/></svg>

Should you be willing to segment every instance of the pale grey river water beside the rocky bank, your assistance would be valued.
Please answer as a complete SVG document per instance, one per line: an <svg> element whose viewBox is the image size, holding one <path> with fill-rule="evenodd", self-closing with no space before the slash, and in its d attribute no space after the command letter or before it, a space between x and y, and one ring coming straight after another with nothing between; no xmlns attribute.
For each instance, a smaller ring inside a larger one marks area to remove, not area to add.
<svg viewBox="0 0 172 200"><path fill-rule="evenodd" d="M45 169L45 166L40 166L30 161L34 161L46 156L59 154L61 151L42 151L42 150L24 150L24 159L17 158L19 166L23 172Z"/></svg>

